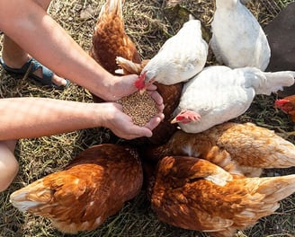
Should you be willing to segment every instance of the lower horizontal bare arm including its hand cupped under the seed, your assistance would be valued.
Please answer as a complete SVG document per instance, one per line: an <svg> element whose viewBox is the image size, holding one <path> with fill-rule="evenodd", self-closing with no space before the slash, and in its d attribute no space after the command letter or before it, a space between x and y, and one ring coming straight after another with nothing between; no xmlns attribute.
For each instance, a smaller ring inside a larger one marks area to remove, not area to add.
<svg viewBox="0 0 295 237"><path fill-rule="evenodd" d="M0 99L0 141L51 136L77 129L108 127L116 136L152 136L161 118L138 127L117 103L85 103L47 98Z"/></svg>

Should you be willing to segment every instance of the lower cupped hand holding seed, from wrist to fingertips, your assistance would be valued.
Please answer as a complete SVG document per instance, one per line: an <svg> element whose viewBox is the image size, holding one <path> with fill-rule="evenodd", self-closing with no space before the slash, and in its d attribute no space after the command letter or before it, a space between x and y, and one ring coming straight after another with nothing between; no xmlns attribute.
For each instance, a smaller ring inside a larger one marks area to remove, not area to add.
<svg viewBox="0 0 295 237"><path fill-rule="evenodd" d="M157 97L157 95L156 95ZM101 103L103 106L103 127L108 127L112 132L121 138L134 139L141 136L152 136L152 130L164 118L163 113L159 112L154 118L151 118L147 125L139 127L134 125L132 118L122 112L122 106L118 103Z"/></svg>

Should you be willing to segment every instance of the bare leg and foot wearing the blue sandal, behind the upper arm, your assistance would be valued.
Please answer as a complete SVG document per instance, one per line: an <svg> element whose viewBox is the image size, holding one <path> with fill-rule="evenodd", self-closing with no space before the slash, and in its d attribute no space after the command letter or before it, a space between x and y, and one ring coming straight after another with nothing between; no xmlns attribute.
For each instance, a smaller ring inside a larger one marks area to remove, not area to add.
<svg viewBox="0 0 295 237"><path fill-rule="evenodd" d="M43 9L47 10L51 1L42 1L36 0L37 4L39 4ZM30 58L22 48L20 48L13 40L4 35L3 49L2 49L2 57L7 66L13 68L21 68ZM35 75L42 77L41 68L35 72ZM66 85L67 81L58 75L53 75L52 82L57 85Z"/></svg>

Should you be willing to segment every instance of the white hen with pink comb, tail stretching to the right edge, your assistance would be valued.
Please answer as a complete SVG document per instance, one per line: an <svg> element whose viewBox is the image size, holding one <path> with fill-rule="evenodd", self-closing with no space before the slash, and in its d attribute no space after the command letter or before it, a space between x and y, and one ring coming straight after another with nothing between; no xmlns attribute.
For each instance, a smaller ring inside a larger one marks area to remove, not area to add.
<svg viewBox="0 0 295 237"><path fill-rule="evenodd" d="M199 133L243 114L255 94L269 95L294 83L295 72L264 73L255 67L209 66L183 86L172 121Z"/></svg>

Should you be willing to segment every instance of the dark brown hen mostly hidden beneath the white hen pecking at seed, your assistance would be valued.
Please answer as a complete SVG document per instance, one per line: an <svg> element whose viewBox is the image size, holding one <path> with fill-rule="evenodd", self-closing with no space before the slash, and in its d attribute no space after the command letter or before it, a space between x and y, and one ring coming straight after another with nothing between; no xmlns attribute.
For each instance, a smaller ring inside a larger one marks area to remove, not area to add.
<svg viewBox="0 0 295 237"><path fill-rule="evenodd" d="M143 60L141 64L136 64L123 57L117 57L118 66L121 67L121 74L137 74L140 75L142 69L147 65L148 59ZM178 106L181 92L183 90L183 83L174 83L165 85L162 83L155 83L157 92L162 96L164 103L163 113L165 118L161 123L153 130L153 136L149 138L141 138L143 142L149 142L151 144L160 145L164 144L177 130L175 124L171 124L173 119L173 113Z"/></svg>

